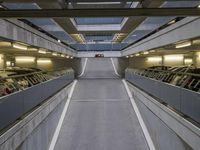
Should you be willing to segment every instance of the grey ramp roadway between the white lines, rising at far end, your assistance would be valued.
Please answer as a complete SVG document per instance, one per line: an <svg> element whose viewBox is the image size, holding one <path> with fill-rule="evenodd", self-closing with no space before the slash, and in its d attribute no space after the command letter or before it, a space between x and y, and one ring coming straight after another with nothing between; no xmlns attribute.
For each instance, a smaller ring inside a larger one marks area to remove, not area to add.
<svg viewBox="0 0 200 150"><path fill-rule="evenodd" d="M88 59L59 123L50 146L55 150L149 149L123 82L107 58Z"/></svg>

